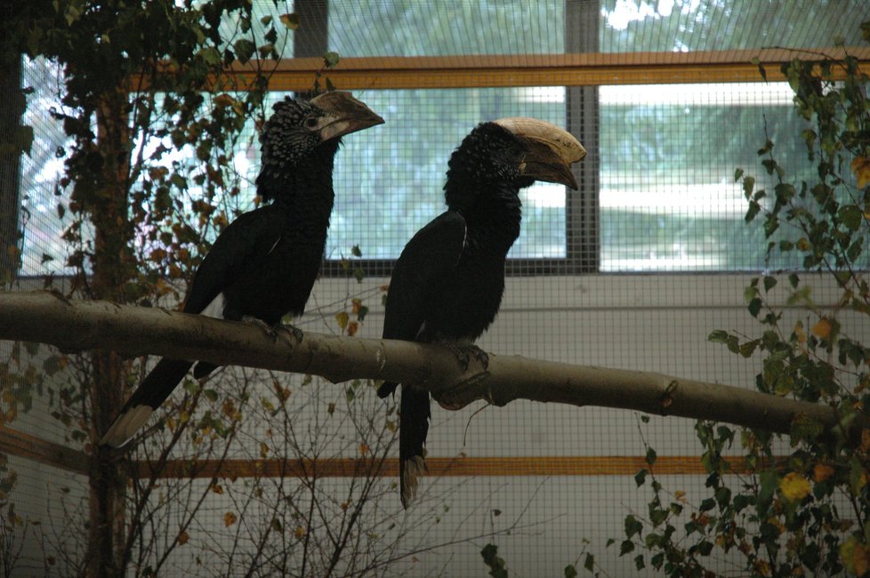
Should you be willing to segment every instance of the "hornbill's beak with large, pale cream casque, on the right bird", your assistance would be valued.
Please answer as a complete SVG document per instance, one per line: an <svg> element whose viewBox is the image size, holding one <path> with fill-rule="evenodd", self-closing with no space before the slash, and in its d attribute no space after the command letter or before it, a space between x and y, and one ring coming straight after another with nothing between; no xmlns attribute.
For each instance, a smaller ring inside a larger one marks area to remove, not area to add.
<svg viewBox="0 0 870 578"><path fill-rule="evenodd" d="M536 181L558 182L577 189L571 165L586 156L586 149L574 136L555 124L516 116L500 118L495 124L528 142L522 173Z"/></svg>

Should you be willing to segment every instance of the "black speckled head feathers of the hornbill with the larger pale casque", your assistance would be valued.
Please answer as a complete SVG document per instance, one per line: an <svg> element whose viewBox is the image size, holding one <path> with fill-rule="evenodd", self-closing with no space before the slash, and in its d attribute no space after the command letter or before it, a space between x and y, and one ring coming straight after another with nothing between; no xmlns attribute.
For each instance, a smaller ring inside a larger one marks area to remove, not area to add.
<svg viewBox="0 0 870 578"><path fill-rule="evenodd" d="M520 165L526 144L495 123L478 124L455 149L448 162L444 197L447 206L463 211L481 191L493 194L530 186L534 179L523 176Z"/></svg>

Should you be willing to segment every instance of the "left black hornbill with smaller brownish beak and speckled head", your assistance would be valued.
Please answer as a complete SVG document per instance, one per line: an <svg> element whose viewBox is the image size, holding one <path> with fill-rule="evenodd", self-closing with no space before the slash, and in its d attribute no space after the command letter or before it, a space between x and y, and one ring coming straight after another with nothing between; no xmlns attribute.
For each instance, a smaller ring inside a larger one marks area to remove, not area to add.
<svg viewBox="0 0 870 578"><path fill-rule="evenodd" d="M183 311L276 325L305 308L318 276L332 212L333 163L342 136L382 124L349 92L287 97L260 136L257 193L268 205L243 213L214 241L197 269ZM124 446L188 373L192 361L164 357L141 382L101 444ZM199 363L194 376L214 365Z"/></svg>

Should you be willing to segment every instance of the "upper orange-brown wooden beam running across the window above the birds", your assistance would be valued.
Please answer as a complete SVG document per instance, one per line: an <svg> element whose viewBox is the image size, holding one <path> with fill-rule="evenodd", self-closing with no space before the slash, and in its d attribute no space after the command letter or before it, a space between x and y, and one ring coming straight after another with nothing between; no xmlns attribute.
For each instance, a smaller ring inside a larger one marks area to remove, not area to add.
<svg viewBox="0 0 870 578"><path fill-rule="evenodd" d="M870 47L848 52L866 66ZM688 84L761 82L758 58L767 65L768 80L782 81L779 63L842 59L842 49L800 51L778 48L702 52L616 52L583 54L455 55L343 58L325 76L342 90L475 88L497 86L598 86L602 84ZM260 63L274 68L270 90L308 90L320 58ZM238 85L254 79L254 65L230 68Z"/></svg>

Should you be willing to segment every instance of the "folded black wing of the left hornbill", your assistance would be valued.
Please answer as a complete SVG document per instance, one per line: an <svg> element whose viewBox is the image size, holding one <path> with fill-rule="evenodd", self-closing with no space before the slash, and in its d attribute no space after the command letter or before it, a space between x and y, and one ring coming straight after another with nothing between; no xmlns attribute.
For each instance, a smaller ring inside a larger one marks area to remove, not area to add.
<svg viewBox="0 0 870 578"><path fill-rule="evenodd" d="M266 205L240 214L223 230L193 277L185 313L202 313L234 279L257 269L281 237L278 212Z"/></svg>

